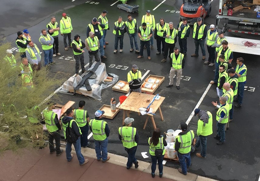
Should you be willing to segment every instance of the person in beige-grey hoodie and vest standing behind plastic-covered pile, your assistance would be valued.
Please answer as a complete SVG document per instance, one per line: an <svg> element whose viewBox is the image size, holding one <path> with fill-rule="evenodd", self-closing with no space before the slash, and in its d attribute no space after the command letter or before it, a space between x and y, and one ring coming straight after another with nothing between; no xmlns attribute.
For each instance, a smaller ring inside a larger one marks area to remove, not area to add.
<svg viewBox="0 0 260 181"><path fill-rule="evenodd" d="M93 57L95 56L95 61L99 62L99 39L95 36L94 32L89 32L88 38L85 40L86 49L88 50L89 56L89 67L93 64ZM101 45L102 46L102 45Z"/></svg>

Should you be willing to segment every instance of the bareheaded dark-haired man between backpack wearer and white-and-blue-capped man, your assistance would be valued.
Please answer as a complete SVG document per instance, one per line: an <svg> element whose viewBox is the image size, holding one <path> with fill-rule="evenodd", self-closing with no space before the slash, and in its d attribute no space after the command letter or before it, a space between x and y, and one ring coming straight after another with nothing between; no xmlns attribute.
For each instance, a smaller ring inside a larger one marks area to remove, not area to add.
<svg viewBox="0 0 260 181"><path fill-rule="evenodd" d="M81 130L80 144L81 147L88 147L90 142L88 141L88 123L89 115L88 111L84 110L86 102L79 101L78 109L74 110L75 121L78 123L78 127Z"/></svg>

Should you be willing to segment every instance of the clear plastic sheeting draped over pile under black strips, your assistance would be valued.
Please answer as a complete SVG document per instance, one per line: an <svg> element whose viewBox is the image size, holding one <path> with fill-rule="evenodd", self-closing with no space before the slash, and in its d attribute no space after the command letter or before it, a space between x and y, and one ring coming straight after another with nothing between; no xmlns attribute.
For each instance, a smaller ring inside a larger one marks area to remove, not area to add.
<svg viewBox="0 0 260 181"><path fill-rule="evenodd" d="M95 63L88 69L92 70L92 68L95 66ZM111 82L105 82L104 80L107 77L106 73L106 64L101 63L97 70L95 71L96 76L91 76L88 78L88 82L92 88L92 91L87 91L85 85L79 88L76 93L83 94L89 97L92 97L98 101L101 101L101 90L106 89L113 84L115 84L118 81L118 76L116 74L110 73L114 78ZM95 78L96 77L96 78ZM62 85L61 91L62 92L74 92L74 88L81 82L82 77L78 75L77 77L70 77L64 84Z"/></svg>

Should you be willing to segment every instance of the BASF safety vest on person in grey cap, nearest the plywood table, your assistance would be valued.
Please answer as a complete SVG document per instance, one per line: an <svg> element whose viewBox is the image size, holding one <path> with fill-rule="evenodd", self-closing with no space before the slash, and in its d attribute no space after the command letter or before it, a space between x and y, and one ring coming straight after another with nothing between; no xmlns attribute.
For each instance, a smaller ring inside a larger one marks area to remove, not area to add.
<svg viewBox="0 0 260 181"><path fill-rule="evenodd" d="M137 146L134 136L136 135L136 128L130 126L123 126L118 129L120 136L122 137L123 146L130 149Z"/></svg>

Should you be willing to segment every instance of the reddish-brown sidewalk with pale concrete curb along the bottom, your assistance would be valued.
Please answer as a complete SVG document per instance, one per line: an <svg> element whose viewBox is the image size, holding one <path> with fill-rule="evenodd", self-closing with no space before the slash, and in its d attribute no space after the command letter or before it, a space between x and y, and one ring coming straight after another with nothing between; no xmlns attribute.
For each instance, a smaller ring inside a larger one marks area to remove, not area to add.
<svg viewBox="0 0 260 181"><path fill-rule="evenodd" d="M16 154L6 151L0 157L0 181L47 181L47 180L107 180L107 181L150 181L151 163L139 161L137 169L126 169L127 158L110 154L110 160L106 163L97 161L95 150L82 148L81 152L89 162L83 166L79 165L76 153L72 147L74 157L67 162L65 148L60 156L49 154L49 148L42 150L26 150ZM86 156L87 155L87 156ZM161 181L213 181L205 177L188 173L184 176L177 169L164 166L164 177L159 178L158 167L154 179ZM167 177L167 178L166 178Z"/></svg>

